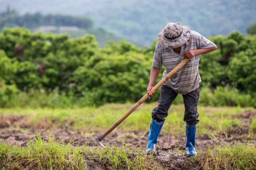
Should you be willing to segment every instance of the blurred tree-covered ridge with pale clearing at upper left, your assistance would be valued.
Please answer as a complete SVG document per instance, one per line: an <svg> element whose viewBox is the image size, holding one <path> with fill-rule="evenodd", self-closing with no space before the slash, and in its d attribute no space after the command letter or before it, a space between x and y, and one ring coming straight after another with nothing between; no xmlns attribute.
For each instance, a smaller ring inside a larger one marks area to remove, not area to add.
<svg viewBox="0 0 256 170"><path fill-rule="evenodd" d="M71 38L82 37L84 34L93 34L99 46L103 47L106 41L118 42L112 33L108 33L102 28L93 28L93 22L85 16L70 16L60 14L42 15L39 12L34 14L19 15L16 10L0 11L0 31L3 27L26 27L32 32L43 31L59 33L69 33Z"/></svg>

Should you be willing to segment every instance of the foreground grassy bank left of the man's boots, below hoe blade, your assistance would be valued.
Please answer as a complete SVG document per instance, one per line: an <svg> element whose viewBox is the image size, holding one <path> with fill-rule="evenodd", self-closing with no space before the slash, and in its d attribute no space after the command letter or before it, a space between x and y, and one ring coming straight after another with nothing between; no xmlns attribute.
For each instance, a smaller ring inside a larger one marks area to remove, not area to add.
<svg viewBox="0 0 256 170"><path fill-rule="evenodd" d="M54 137L34 136L26 147L0 143L0 169L162 169L144 150L132 152L123 144L111 148L90 148L86 144L74 147L54 141Z"/></svg>

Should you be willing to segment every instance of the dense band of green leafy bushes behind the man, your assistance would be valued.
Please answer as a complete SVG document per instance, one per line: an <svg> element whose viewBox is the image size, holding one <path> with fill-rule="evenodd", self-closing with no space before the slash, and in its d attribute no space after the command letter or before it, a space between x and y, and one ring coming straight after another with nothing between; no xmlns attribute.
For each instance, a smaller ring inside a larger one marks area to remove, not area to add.
<svg viewBox="0 0 256 170"><path fill-rule="evenodd" d="M218 49L199 63L201 103L255 106L256 35L233 31L209 39ZM137 101L147 88L155 43L142 49L120 41L99 48L92 35L69 39L67 34L5 28L0 34L0 105Z"/></svg>

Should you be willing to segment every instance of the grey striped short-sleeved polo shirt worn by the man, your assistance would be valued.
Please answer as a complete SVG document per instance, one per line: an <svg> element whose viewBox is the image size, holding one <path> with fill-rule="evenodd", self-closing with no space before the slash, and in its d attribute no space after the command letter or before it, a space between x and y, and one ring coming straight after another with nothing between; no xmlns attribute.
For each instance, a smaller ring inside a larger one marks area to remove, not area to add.
<svg viewBox="0 0 256 170"><path fill-rule="evenodd" d="M154 59L152 66L160 68L162 65L166 68L163 78L172 71L183 59L184 52L192 49L210 48L216 45L203 37L196 31L191 31L189 40L181 46L180 54L174 52L172 48L166 48L156 43ZM201 78L198 72L198 64L201 55L195 55L181 69L179 69L164 85L172 88L176 93L187 94L199 87Z"/></svg>

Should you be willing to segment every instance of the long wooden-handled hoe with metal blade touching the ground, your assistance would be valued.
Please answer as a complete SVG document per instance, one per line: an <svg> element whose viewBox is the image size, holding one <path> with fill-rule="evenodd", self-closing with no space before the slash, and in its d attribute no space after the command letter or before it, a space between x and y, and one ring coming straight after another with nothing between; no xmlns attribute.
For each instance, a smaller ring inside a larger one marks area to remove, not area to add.
<svg viewBox="0 0 256 170"><path fill-rule="evenodd" d="M185 65L188 61L190 60L190 58L185 58L183 61L181 61L181 63L179 63L170 73L168 73L168 75L166 75L160 82L158 82L156 84L156 86L154 86L151 90L150 90L150 94L154 91L156 91L160 86L162 86L162 84L164 84L164 82L166 82L166 80L168 80L171 76L173 76L181 67L183 67L183 65ZM148 94L145 94L137 103L135 103L135 105L133 105L133 107L131 107L131 109L129 109L129 111L127 111L119 120L117 120L110 128L108 128L104 133L102 133L102 135L98 136L95 138L95 140L104 148L106 148L102 143L102 139L104 139L110 132L112 132L120 123L123 122L123 120L125 120L133 111L135 111L135 109L137 109L137 107L139 107L139 105L141 105L141 103L143 103L147 98L148 98Z"/></svg>

